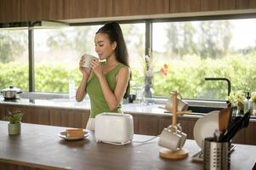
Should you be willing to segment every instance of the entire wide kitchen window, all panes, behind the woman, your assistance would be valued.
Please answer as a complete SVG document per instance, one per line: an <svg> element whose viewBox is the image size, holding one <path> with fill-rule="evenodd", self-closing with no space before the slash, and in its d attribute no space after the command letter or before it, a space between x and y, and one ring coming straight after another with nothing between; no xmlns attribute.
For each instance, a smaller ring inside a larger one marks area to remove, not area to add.
<svg viewBox="0 0 256 170"><path fill-rule="evenodd" d="M150 21L148 21L150 22ZM256 19L191 20L152 23L150 71L153 97L177 90L185 99L225 100L231 90L254 91ZM36 92L67 93L81 81L82 54L95 54L94 35L102 25L34 30ZM121 24L132 70L131 87L145 87L145 22ZM28 91L28 31L0 31L0 88ZM147 38L151 39L151 38ZM143 90L141 90L143 91ZM138 94L138 92L137 92Z"/></svg>

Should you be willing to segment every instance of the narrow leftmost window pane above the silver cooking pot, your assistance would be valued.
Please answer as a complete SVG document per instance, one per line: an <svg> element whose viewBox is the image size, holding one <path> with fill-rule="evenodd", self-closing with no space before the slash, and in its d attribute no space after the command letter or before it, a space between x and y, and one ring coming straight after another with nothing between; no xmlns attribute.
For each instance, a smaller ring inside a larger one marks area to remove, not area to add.
<svg viewBox="0 0 256 170"><path fill-rule="evenodd" d="M0 31L0 89L28 91L28 32Z"/></svg>

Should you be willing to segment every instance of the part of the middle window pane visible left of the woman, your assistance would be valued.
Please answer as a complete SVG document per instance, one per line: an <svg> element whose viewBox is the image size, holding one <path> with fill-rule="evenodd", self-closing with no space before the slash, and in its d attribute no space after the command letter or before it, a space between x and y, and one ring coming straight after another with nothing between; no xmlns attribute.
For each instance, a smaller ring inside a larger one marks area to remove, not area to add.
<svg viewBox="0 0 256 170"><path fill-rule="evenodd" d="M94 54L94 32L99 26L35 30L35 90L67 93L69 80L80 82L82 54Z"/></svg>

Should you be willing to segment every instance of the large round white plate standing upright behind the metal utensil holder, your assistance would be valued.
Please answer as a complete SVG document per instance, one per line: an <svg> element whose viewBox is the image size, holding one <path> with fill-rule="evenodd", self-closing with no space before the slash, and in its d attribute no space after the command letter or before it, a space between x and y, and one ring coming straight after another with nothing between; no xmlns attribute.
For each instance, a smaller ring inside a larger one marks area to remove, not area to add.
<svg viewBox="0 0 256 170"><path fill-rule="evenodd" d="M203 140L213 137L215 129L219 129L219 111L211 111L196 121L193 134L196 144L203 148Z"/></svg>

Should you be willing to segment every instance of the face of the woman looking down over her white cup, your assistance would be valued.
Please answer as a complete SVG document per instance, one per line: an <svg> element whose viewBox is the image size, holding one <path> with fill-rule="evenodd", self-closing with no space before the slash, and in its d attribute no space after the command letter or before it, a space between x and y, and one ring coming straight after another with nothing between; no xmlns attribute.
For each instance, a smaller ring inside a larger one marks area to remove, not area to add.
<svg viewBox="0 0 256 170"><path fill-rule="evenodd" d="M110 42L109 37L105 33L97 33L95 35L95 51L100 59L107 59L112 54L115 54L117 42Z"/></svg>

